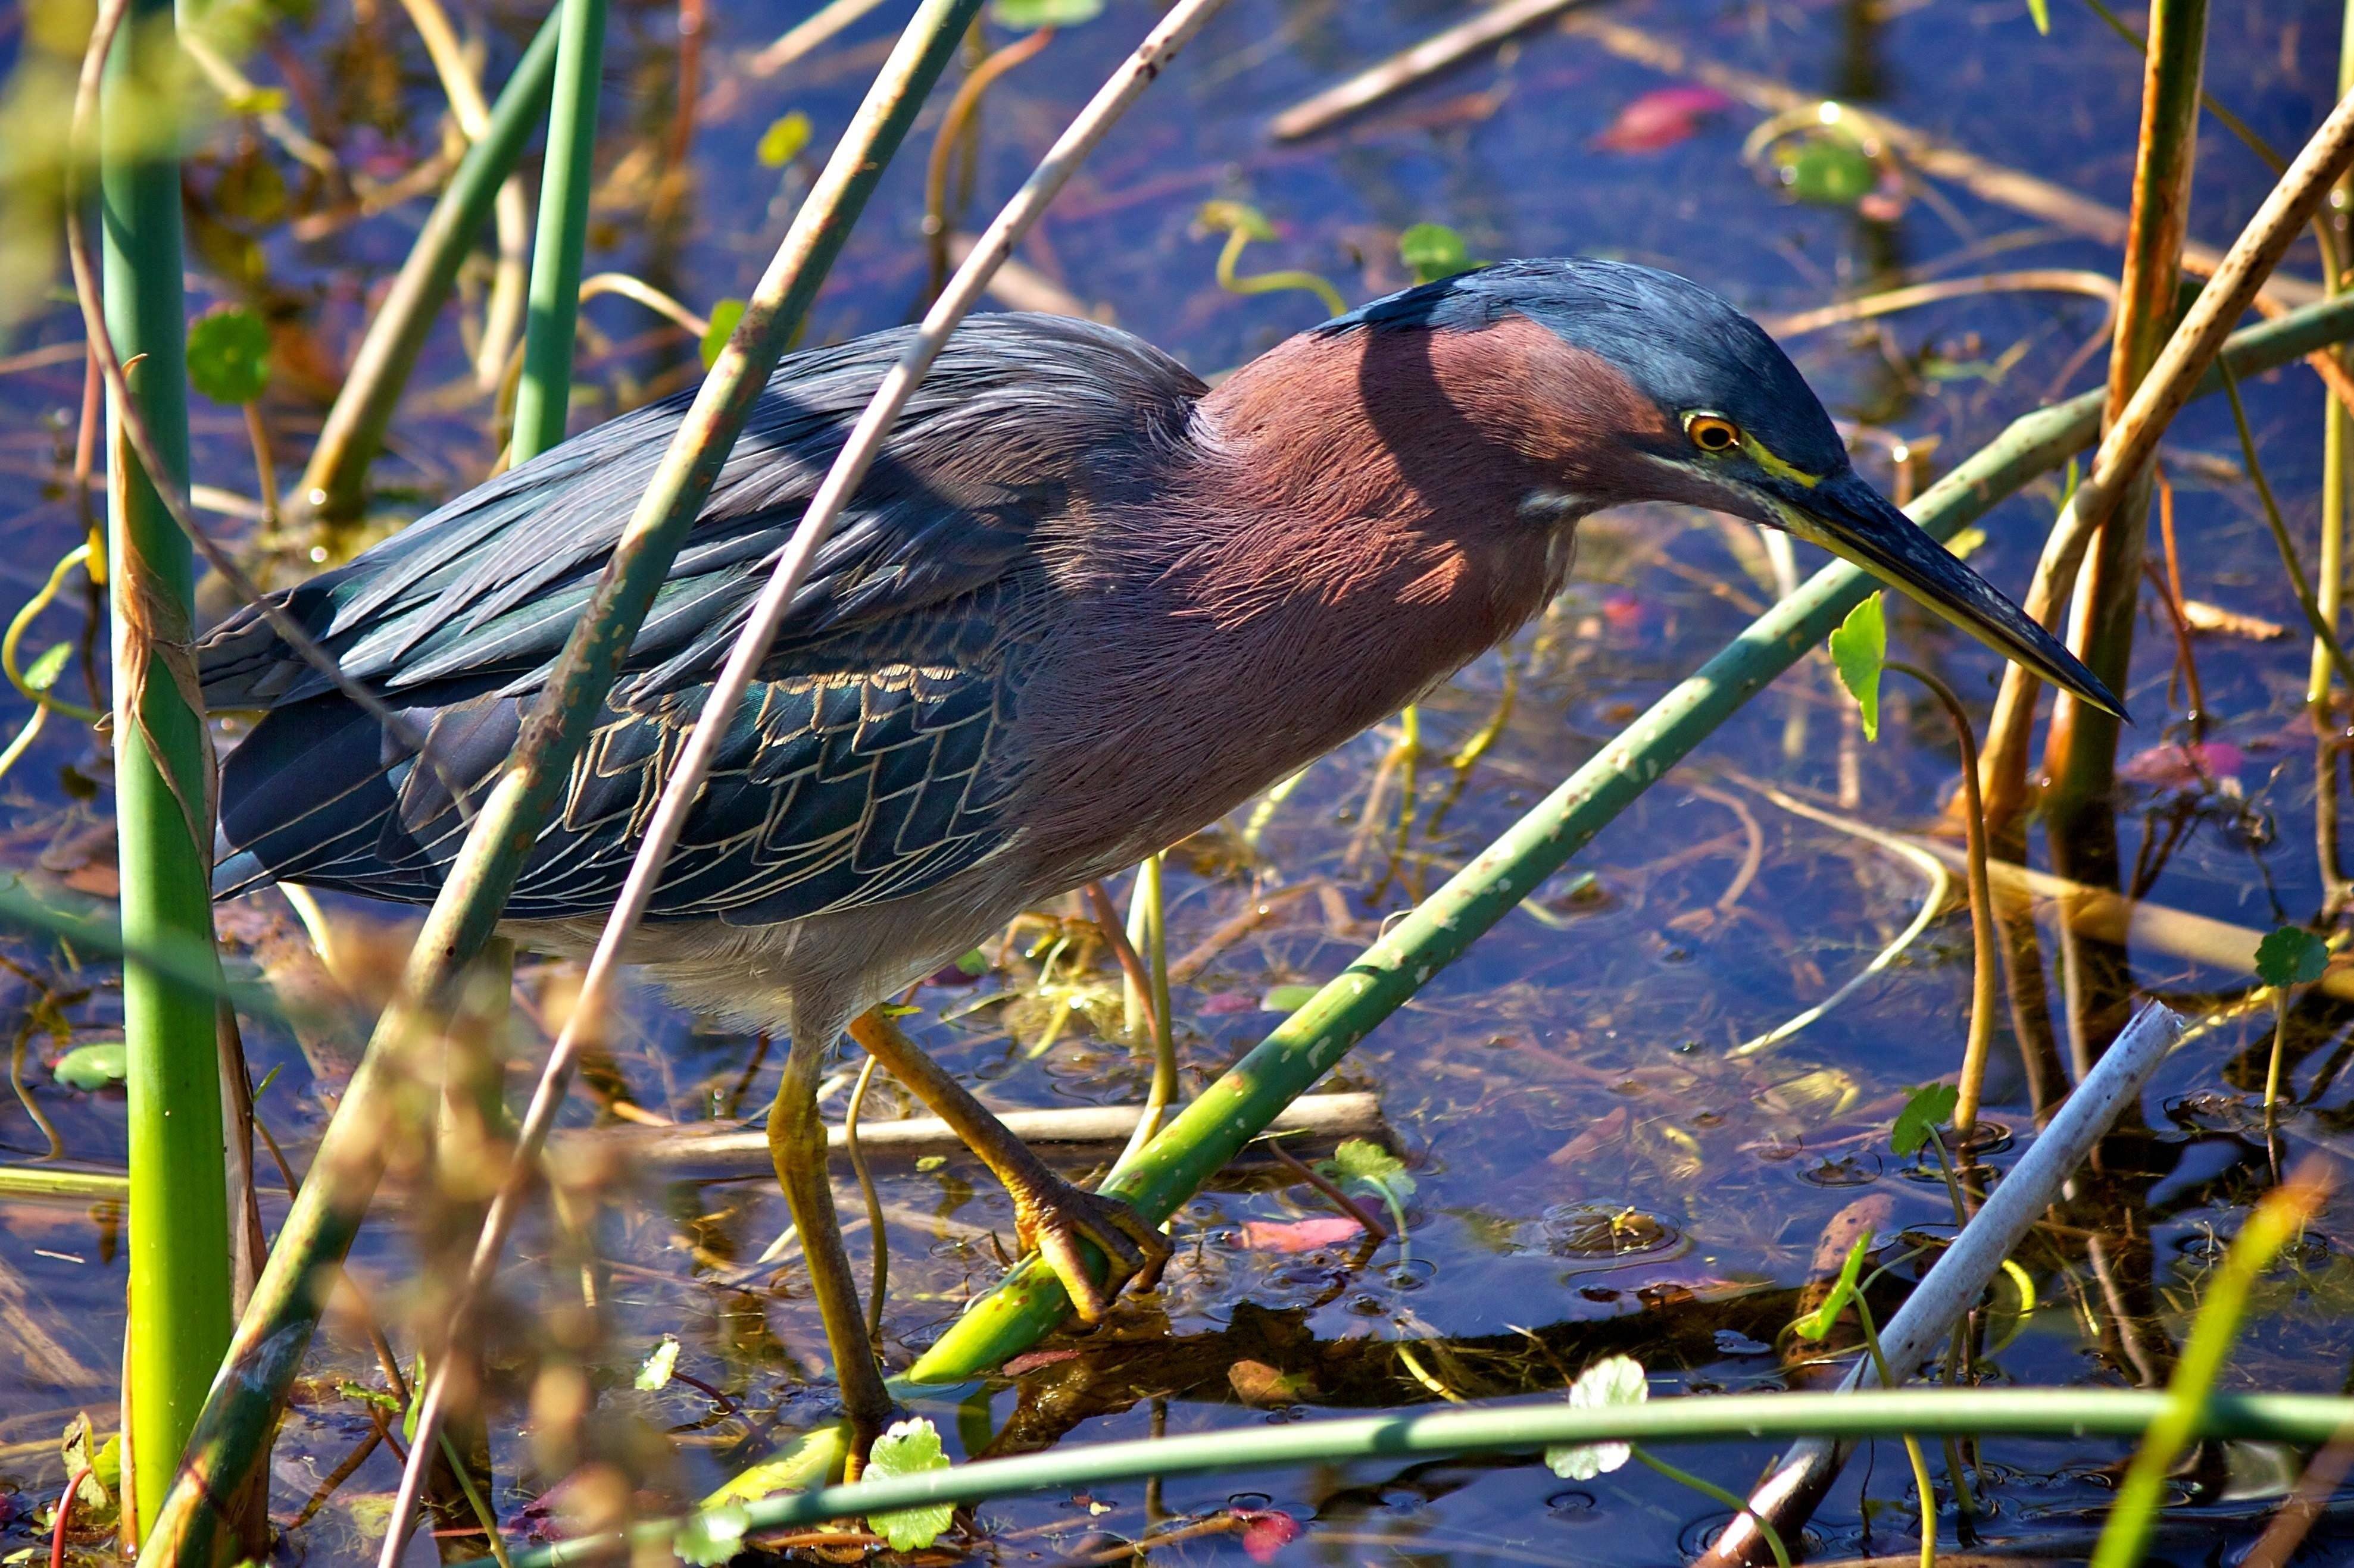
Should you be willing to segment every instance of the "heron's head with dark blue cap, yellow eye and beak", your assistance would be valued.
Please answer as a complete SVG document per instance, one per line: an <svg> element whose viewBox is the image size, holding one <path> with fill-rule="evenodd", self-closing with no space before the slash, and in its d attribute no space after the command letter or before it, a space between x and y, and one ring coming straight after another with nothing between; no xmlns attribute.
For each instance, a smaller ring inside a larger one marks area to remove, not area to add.
<svg viewBox="0 0 2354 1568"><path fill-rule="evenodd" d="M1542 381L1511 388L1554 410L1558 487L1535 516L1683 501L1787 530L1853 560L1994 652L2109 713L2123 706L2043 626L1874 490L1815 391L1754 320L1709 290L1620 261L1504 261L1379 299L1335 330L1525 334Z"/></svg>

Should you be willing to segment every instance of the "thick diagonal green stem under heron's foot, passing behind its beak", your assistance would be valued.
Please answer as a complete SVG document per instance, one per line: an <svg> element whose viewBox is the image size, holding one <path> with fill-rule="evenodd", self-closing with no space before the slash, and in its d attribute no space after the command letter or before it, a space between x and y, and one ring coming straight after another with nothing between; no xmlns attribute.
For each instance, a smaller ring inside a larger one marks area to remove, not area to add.
<svg viewBox="0 0 2354 1568"><path fill-rule="evenodd" d="M2239 374L2269 370L2354 334L2354 297L2293 311L2229 339ZM2199 391L2222 384L2208 374ZM2100 393L2083 393L2010 424L1994 443L1911 504L1911 518L1951 539L2027 480L2060 466L2100 433ZM1636 718L1584 768L1481 850L1389 935L1276 1026L1248 1057L1172 1121L1116 1184L1151 1220L1177 1205L1266 1130L1276 1114L1459 958L1547 876L1584 848L1645 789L1775 676L1817 647L1876 584L1838 563L1808 579L1695 676ZM1069 1302L1050 1269L1017 1264L996 1290L909 1368L911 1382L958 1382L1017 1356L1062 1323Z"/></svg>

